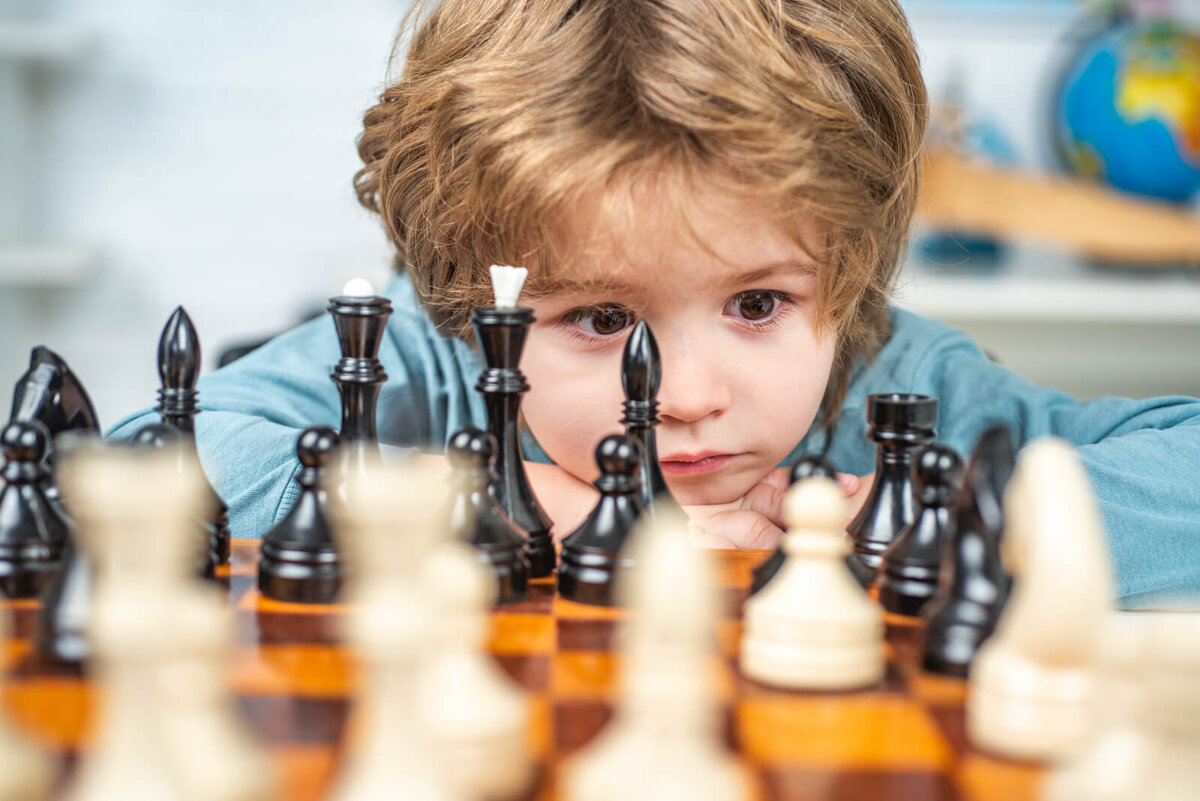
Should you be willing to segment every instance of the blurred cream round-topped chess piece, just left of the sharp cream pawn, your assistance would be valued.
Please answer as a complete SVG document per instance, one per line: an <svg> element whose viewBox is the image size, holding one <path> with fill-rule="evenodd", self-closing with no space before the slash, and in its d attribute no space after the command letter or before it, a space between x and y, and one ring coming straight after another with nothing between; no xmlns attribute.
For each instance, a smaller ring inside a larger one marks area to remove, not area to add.
<svg viewBox="0 0 1200 801"><path fill-rule="evenodd" d="M566 801L740 801L746 773L721 742L714 688L718 600L682 516L643 523L618 585L620 695L612 722L563 767Z"/></svg>

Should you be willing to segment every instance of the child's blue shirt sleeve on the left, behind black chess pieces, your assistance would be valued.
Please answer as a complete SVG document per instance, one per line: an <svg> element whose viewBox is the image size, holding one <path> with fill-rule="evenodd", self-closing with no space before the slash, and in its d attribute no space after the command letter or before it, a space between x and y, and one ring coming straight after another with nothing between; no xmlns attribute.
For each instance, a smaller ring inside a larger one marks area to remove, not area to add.
<svg viewBox="0 0 1200 801"><path fill-rule="evenodd" d="M388 453L440 451L458 427L486 420L472 389L478 355L443 337L415 306L407 284L389 291L395 311L379 348L388 380L379 393L379 441ZM341 427L342 404L330 379L341 357L328 317L276 337L197 384L202 411L196 445L212 488L229 508L235 537L260 537L292 508L300 469L296 440L310 426ZM143 410L118 422L113 439L131 439L157 421Z"/></svg>

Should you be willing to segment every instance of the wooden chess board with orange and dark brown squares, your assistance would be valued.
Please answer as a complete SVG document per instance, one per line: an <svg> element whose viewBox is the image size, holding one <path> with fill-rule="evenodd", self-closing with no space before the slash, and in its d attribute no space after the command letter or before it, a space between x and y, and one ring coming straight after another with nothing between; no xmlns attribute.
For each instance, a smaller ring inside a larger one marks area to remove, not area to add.
<svg viewBox="0 0 1200 801"><path fill-rule="evenodd" d="M796 693L758 686L737 669L739 610L751 568L766 552L716 552L725 614L716 686L725 736L757 779L760 799L805 801L1024 801L1037 797L1040 769L972 749L964 733L965 685L916 669L920 631L888 624L888 671L870 689ZM238 631L230 681L251 729L270 749L288 801L325 796L346 742L360 681L341 643L343 607L278 603L258 595L257 541L235 541L221 580ZM32 739L61 754L64 776L86 742L96 693L76 669L43 663L31 638L36 602L8 602L5 703ZM530 743L540 777L529 799L556 796L560 761L612 715L618 682L613 633L619 610L554 595L551 579L492 614L491 650L528 692Z"/></svg>

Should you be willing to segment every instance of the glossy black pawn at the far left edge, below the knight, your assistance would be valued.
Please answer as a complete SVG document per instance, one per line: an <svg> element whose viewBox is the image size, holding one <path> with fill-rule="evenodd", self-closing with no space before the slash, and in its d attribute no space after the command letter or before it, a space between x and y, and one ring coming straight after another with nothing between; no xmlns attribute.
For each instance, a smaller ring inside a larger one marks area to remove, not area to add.
<svg viewBox="0 0 1200 801"><path fill-rule="evenodd" d="M50 434L37 420L0 432L0 591L10 598L37 597L62 566L68 523L46 495L49 447Z"/></svg>

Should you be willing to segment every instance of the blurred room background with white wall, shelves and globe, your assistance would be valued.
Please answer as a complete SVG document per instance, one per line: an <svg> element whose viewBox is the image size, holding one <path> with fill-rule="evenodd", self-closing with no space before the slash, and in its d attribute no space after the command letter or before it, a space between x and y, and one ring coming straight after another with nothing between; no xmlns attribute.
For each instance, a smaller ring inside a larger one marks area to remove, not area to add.
<svg viewBox="0 0 1200 801"><path fill-rule="evenodd" d="M935 101L898 302L1080 399L1200 395L1200 2L907 0ZM0 379L107 427L389 251L354 139L407 0L0 0ZM203 404L203 397L202 397Z"/></svg>

